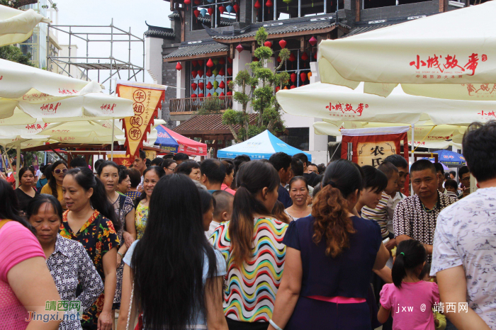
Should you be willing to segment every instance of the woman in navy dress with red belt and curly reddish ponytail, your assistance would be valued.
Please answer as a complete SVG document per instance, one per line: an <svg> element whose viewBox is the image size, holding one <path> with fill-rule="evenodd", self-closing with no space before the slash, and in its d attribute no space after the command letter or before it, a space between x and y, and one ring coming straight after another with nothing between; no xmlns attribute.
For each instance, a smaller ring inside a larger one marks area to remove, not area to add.
<svg viewBox="0 0 496 330"><path fill-rule="evenodd" d="M289 224L286 263L269 330L371 329L366 303L372 269L389 253L377 222L351 211L363 178L351 161L329 164L312 215Z"/></svg>

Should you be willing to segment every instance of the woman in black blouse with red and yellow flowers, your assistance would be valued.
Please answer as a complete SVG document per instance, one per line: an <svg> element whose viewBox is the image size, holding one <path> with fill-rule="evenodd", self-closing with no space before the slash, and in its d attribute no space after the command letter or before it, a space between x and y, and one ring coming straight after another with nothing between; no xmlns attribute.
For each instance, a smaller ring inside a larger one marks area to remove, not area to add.
<svg viewBox="0 0 496 330"><path fill-rule="evenodd" d="M83 314L81 326L85 330L111 330L119 245L116 231L120 229L120 222L108 202L103 183L90 169L78 167L69 170L62 190L68 210L62 215L60 235L83 244L105 283L103 294Z"/></svg>

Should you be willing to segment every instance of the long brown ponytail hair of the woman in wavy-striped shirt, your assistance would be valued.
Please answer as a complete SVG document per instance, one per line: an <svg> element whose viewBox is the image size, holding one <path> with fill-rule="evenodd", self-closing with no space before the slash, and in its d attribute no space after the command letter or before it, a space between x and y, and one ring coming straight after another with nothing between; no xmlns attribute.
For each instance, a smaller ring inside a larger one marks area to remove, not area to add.
<svg viewBox="0 0 496 330"><path fill-rule="evenodd" d="M232 261L241 268L252 256L253 215L271 215L271 210L267 210L255 195L263 188L268 188L269 191L276 189L281 180L272 164L260 160L243 164L236 178L239 188L232 203L232 218L228 230Z"/></svg>

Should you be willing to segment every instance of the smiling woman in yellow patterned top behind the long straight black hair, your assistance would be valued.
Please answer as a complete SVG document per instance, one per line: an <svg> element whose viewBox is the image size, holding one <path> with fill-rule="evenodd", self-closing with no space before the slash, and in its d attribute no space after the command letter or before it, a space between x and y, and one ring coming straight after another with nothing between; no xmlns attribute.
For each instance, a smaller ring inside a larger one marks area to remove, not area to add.
<svg viewBox="0 0 496 330"><path fill-rule="evenodd" d="M141 239L145 232L149 212L148 205L150 205L153 188L164 175L165 171L160 166L151 166L143 172L143 193L135 202L137 239Z"/></svg>

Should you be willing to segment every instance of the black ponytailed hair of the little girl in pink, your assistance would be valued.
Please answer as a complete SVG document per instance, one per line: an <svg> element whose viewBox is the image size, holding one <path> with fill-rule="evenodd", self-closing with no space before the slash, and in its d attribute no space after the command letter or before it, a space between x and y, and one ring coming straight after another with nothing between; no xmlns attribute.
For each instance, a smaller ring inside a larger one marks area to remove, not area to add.
<svg viewBox="0 0 496 330"><path fill-rule="evenodd" d="M419 276L422 273L423 264L427 259L427 252L424 245L416 239L407 239L398 244L396 258L391 268L391 276L396 288L401 288L401 282L407 275L407 271L415 271L419 268ZM419 278L422 280L422 278Z"/></svg>

